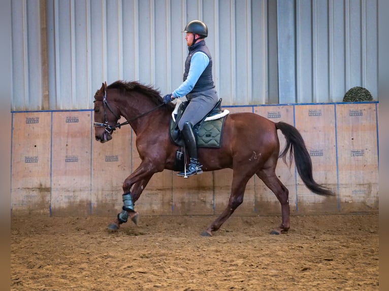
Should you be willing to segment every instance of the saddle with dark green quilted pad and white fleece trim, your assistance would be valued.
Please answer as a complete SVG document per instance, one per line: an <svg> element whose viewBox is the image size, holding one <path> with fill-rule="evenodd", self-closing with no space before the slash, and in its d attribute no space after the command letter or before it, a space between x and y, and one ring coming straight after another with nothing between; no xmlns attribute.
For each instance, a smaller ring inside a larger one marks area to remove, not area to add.
<svg viewBox="0 0 389 291"><path fill-rule="evenodd" d="M228 110L221 110L221 98L217 101L212 110L197 124L193 126L193 134L196 138L198 148L220 148L221 134L224 125L225 116L230 113ZM177 99L176 107L172 112L170 120L170 139L179 149L176 153L175 170L182 171L184 168L183 148L185 142L182 139L181 132L178 128L178 122L185 111L189 101Z"/></svg>

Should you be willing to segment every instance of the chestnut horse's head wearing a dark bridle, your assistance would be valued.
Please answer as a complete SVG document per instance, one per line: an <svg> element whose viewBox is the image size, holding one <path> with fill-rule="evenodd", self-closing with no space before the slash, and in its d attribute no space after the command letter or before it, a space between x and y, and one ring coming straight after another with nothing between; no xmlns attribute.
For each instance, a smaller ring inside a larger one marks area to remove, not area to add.
<svg viewBox="0 0 389 291"><path fill-rule="evenodd" d="M112 99L111 99L112 100ZM107 100L107 83L94 94L94 136L97 141L106 142L112 139L112 132L117 127L120 113Z"/></svg>

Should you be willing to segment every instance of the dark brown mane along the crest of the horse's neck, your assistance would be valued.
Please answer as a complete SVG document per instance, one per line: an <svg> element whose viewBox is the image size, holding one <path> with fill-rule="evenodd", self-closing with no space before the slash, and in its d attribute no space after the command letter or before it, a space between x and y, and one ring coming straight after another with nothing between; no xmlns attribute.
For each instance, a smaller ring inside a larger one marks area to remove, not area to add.
<svg viewBox="0 0 389 291"><path fill-rule="evenodd" d="M136 91L147 95L150 100L152 100L156 105L163 103L163 100L160 96L160 92L154 89L151 85L143 85L138 81L125 82L125 81L116 81L107 86L107 89L117 89L120 94L131 93Z"/></svg>

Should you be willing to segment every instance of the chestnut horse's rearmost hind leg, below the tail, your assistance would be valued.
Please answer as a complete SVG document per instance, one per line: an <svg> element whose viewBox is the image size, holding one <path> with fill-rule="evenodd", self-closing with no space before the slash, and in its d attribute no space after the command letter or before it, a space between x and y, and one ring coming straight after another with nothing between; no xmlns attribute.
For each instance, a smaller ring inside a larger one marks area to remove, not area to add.
<svg viewBox="0 0 389 291"><path fill-rule="evenodd" d="M274 168L261 169L256 175L264 181L265 185L273 191L278 201L281 203L281 225L272 230L270 234L281 234L289 230L289 190L278 179Z"/></svg>

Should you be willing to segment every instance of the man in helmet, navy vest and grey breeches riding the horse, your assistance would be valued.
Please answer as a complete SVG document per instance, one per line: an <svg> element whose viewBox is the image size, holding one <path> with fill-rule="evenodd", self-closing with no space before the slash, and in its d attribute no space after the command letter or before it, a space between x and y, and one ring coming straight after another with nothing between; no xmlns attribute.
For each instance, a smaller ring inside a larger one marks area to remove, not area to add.
<svg viewBox="0 0 389 291"><path fill-rule="evenodd" d="M191 176L203 172L192 127L212 110L219 97L212 78L212 57L204 40L208 36L207 25L200 20L193 20L186 24L183 32L186 32L185 40L189 49L183 83L173 93L165 95L164 102L169 103L185 95L189 101L178 122L178 128L182 132L190 158L186 175ZM177 175L185 176L185 172Z"/></svg>

